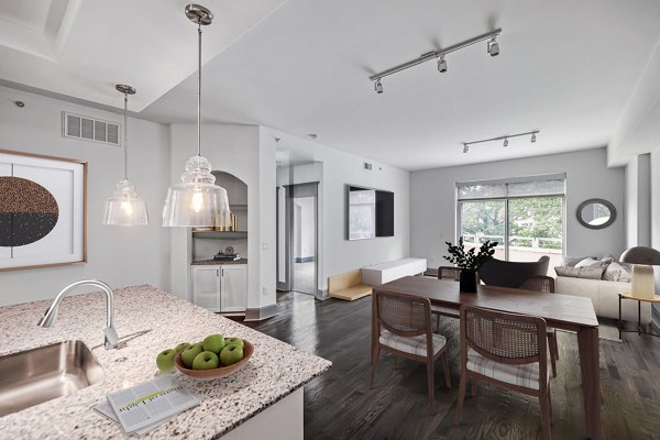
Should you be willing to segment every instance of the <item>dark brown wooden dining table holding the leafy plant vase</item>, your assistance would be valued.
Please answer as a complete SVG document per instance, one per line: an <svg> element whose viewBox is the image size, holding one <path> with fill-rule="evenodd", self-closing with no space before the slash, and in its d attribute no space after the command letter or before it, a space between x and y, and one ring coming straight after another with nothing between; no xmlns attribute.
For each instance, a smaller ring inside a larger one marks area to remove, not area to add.
<svg viewBox="0 0 660 440"><path fill-rule="evenodd" d="M586 437L601 438L601 375L598 370L598 320L591 299L573 295L541 294L532 290L477 286L476 294L459 292L459 283L425 276L407 276L374 292L414 295L432 305L459 310L469 304L487 309L541 317L549 327L578 333ZM377 331L372 322L372 331Z"/></svg>

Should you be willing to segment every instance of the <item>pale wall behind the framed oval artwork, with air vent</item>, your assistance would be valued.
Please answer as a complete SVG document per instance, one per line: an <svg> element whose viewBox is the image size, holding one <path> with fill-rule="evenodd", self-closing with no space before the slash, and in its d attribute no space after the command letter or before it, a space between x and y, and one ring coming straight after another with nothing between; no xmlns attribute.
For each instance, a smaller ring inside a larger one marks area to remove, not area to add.
<svg viewBox="0 0 660 440"><path fill-rule="evenodd" d="M16 107L18 100L25 107ZM0 148L88 162L88 263L0 272L0 305L54 298L85 278L112 287L148 283L168 289L169 238L161 227L169 180L166 127L129 118L129 177L146 200L150 226L105 227L106 198L123 178L123 147L63 138L62 111L123 124L121 114L0 87Z"/></svg>

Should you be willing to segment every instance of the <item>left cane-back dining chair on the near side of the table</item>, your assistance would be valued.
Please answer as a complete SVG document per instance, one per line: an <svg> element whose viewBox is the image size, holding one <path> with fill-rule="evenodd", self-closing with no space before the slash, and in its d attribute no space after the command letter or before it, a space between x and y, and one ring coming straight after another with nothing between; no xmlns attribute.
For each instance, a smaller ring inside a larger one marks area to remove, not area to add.
<svg viewBox="0 0 660 440"><path fill-rule="evenodd" d="M451 388L447 339L431 331L431 302L411 295L373 293L372 367L370 387L378 367L381 350L427 365L429 410L433 407L433 364L442 358L444 383Z"/></svg>

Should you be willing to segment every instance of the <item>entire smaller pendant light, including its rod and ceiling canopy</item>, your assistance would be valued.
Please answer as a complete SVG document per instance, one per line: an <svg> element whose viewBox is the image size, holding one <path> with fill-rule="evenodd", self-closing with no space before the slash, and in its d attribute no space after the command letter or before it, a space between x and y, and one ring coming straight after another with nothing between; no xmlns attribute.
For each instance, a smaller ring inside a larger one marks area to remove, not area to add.
<svg viewBox="0 0 660 440"><path fill-rule="evenodd" d="M114 88L124 94L124 178L119 180L114 194L106 200L103 224L113 227L138 227L148 224L146 204L140 198L135 185L129 182L129 125L127 108L129 95L135 95L131 86L118 84Z"/></svg>

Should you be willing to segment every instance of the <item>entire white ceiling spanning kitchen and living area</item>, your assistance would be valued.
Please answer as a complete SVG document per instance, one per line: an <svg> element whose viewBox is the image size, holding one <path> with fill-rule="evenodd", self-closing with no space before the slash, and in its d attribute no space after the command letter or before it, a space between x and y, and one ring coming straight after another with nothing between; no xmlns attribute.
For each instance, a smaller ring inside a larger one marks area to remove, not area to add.
<svg viewBox="0 0 660 440"><path fill-rule="evenodd" d="M0 78L118 107L111 85L130 81L140 117L196 120L196 33L185 1L32 0L50 8L32 14L16 3L0 0ZM216 14L204 29L205 122L316 133L317 143L411 170L607 145L660 40L657 0L204 4ZM68 28L48 24L67 22L70 9ZM7 43L7 23L55 48L68 36L48 58ZM499 56L480 43L449 54L447 74L429 62L374 92L370 75L496 28ZM462 153L462 142L530 130L540 130L534 144L516 138Z"/></svg>

